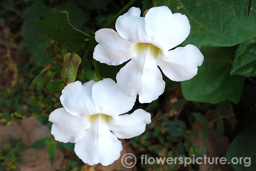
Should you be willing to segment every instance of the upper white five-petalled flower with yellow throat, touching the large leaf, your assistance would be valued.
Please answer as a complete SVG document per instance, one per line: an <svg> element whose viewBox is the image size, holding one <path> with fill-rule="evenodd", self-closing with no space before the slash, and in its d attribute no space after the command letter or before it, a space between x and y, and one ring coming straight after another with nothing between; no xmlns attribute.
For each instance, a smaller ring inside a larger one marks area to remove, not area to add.
<svg viewBox="0 0 256 171"><path fill-rule="evenodd" d="M117 32L118 33L117 33ZM140 17L132 7L116 20L116 31L109 28L95 33L99 43L93 58L108 65L131 59L116 75L117 84L128 96L139 94L140 103L150 103L163 94L163 73L173 81L189 80L197 74L204 56L194 45L178 47L190 32L189 20L172 14L166 6L149 9Z"/></svg>

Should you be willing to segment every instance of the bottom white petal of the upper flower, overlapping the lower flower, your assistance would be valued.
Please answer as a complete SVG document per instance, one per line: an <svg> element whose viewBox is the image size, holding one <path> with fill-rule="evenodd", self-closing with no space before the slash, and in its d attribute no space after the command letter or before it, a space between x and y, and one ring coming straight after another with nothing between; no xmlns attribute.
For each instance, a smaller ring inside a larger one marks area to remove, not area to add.
<svg viewBox="0 0 256 171"><path fill-rule="evenodd" d="M156 59L145 52L131 59L116 74L117 84L125 94L139 94L140 103L151 103L163 94L165 82Z"/></svg>

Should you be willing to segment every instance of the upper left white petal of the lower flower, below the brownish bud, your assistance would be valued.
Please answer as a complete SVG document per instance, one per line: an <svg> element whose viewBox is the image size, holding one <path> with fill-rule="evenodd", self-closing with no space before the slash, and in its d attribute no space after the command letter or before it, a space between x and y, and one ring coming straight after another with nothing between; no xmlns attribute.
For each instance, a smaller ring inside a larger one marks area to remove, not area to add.
<svg viewBox="0 0 256 171"><path fill-rule="evenodd" d="M80 81L67 84L60 97L65 110L74 116L98 114L99 108L96 108L92 100L92 86L95 83L91 80L83 85Z"/></svg>

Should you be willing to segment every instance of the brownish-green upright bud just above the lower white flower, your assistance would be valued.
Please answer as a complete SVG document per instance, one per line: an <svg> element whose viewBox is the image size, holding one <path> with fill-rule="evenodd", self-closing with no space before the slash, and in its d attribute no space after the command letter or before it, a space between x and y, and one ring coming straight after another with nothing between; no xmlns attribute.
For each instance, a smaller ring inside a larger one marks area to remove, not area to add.
<svg viewBox="0 0 256 171"><path fill-rule="evenodd" d="M61 71L61 79L69 84L76 80L76 74L81 63L81 57L78 54L67 53L64 56L63 68Z"/></svg>

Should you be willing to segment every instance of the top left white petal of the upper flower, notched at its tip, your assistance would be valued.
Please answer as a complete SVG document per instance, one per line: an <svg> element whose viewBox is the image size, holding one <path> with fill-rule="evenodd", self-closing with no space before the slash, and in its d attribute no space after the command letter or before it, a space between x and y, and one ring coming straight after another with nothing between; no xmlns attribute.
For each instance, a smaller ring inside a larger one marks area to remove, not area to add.
<svg viewBox="0 0 256 171"><path fill-rule="evenodd" d="M148 43L151 39L145 31L145 18L140 17L140 9L135 7L117 18L116 31L133 43Z"/></svg>

